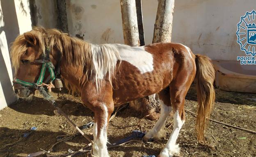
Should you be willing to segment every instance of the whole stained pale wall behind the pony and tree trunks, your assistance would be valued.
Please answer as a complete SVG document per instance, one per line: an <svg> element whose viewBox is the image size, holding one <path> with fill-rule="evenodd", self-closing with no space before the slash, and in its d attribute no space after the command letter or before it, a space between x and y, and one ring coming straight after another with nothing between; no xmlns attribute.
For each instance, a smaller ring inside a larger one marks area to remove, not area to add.
<svg viewBox="0 0 256 157"><path fill-rule="evenodd" d="M69 33L96 44L123 43L120 2L117 0L66 0ZM142 0L145 43L150 44L157 0ZM215 60L236 60L243 55L236 25L255 0L176 0L172 42Z"/></svg>

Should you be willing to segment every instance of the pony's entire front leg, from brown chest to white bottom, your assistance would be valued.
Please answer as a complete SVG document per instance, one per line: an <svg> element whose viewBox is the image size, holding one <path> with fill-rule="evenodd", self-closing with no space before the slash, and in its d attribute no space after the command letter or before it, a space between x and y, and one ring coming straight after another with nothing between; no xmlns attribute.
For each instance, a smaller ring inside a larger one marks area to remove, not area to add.
<svg viewBox="0 0 256 157"><path fill-rule="evenodd" d="M94 112L94 144L92 155L109 157L107 152L107 126L110 115L114 111L112 86L101 82L101 88L96 90L95 82L89 81L81 90L81 99Z"/></svg>

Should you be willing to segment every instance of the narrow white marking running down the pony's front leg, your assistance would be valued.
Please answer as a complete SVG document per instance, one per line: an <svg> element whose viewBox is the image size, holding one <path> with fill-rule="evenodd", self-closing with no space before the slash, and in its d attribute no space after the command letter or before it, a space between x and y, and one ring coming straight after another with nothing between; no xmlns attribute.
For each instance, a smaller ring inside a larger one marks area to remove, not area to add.
<svg viewBox="0 0 256 157"><path fill-rule="evenodd" d="M98 154L99 157L109 157L108 152L107 152L107 106L103 104L104 108L104 113L103 113L103 127L98 130L99 137L96 139L96 144L98 146Z"/></svg>

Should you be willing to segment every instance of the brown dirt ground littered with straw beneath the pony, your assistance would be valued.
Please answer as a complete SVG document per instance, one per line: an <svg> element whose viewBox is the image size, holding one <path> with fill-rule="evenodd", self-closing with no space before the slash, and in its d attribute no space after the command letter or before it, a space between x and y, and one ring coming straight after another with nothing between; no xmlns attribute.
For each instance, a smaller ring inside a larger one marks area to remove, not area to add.
<svg viewBox="0 0 256 157"><path fill-rule="evenodd" d="M256 131L255 94L225 92L216 89L216 103L211 118L227 124ZM57 103L78 126L93 121L93 113L85 108L78 97L72 97L64 90L55 91ZM185 101L185 108L196 111L196 92L190 88ZM35 95L31 102L18 100L0 111L0 157L26 157L28 153L48 150L57 142L59 135L74 135L66 142L60 142L53 148L53 154L68 153L79 150L89 142L64 119L53 113L53 106ZM132 130L140 129L138 123L142 115L129 107L117 113L110 122L108 139L110 143L130 135ZM155 121L141 120L142 131L148 131ZM166 123L166 136L151 143L130 143L110 148L111 157L142 157L158 155L167 143L172 130L172 116ZM30 128L36 126L37 130ZM256 157L256 134L248 133L215 122L209 122L206 139L210 146L199 144L195 134L195 117L186 113L186 122L181 129L177 143L181 147L182 157ZM92 139L92 128L83 130ZM22 137L23 133L30 133ZM46 155L42 155L45 157ZM86 155L79 155L85 157Z"/></svg>

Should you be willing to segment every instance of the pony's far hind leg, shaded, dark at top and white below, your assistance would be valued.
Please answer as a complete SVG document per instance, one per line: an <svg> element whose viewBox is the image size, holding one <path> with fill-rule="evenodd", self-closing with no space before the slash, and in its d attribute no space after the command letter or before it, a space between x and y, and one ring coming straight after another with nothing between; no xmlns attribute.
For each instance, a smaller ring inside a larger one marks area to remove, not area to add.
<svg viewBox="0 0 256 157"><path fill-rule="evenodd" d="M160 138L165 136L165 121L169 113L171 112L171 101L169 87L163 89L158 93L159 101L161 105L160 118L156 122L155 126L143 137L144 141L151 138Z"/></svg>

